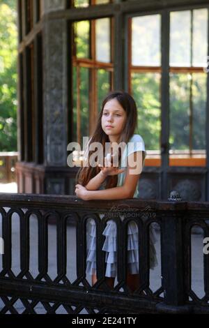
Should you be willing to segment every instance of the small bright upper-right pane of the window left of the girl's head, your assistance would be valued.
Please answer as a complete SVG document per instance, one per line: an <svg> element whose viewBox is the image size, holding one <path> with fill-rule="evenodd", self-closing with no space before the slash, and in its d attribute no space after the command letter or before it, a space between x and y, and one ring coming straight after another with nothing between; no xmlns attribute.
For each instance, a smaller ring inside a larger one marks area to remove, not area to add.
<svg viewBox="0 0 209 328"><path fill-rule="evenodd" d="M102 18L95 21L96 60L109 63L110 58L110 20Z"/></svg>

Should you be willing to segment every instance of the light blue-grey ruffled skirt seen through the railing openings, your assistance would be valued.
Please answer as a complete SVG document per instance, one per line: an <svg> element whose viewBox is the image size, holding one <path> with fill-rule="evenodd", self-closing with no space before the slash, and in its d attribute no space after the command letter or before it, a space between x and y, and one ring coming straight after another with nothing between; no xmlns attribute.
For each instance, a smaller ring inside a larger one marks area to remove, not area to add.
<svg viewBox="0 0 209 328"><path fill-rule="evenodd" d="M121 215L122 216L122 215ZM100 214L100 218L104 214ZM123 218L122 218L123 219ZM116 246L116 223L107 221L102 232L105 236L102 251L105 252L106 277L116 277L117 274L117 246ZM86 226L86 274L96 274L96 226L93 219L88 220ZM150 269L157 265L157 257L154 244L156 243L155 231L150 228ZM139 274L139 234L136 223L131 221L127 225L127 271L130 274Z"/></svg>

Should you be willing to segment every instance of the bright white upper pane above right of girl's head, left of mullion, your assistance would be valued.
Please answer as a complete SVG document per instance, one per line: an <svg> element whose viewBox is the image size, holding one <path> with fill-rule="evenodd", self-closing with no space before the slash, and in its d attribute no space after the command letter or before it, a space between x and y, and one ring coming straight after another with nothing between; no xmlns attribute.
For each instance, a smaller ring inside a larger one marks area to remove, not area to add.
<svg viewBox="0 0 209 328"><path fill-rule="evenodd" d="M132 65L160 66L160 15L132 18Z"/></svg>

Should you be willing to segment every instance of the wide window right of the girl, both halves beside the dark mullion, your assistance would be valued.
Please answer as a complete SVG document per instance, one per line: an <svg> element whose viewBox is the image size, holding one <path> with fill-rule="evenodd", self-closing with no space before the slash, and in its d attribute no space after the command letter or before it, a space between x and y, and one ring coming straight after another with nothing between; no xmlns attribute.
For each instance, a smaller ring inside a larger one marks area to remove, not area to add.
<svg viewBox="0 0 209 328"><path fill-rule="evenodd" d="M169 165L204 166L208 9L170 12L169 19ZM128 89L137 101L139 134L150 158L146 165L155 166L161 165L161 25L160 14L128 22Z"/></svg>

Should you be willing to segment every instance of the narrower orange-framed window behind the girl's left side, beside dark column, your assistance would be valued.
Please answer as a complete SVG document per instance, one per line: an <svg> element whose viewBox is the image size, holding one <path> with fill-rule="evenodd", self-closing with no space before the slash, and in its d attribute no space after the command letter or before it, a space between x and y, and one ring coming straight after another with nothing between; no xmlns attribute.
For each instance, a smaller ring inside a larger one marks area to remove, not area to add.
<svg viewBox="0 0 209 328"><path fill-rule="evenodd" d="M113 87L111 18L72 24L72 140L93 132L102 99Z"/></svg>

